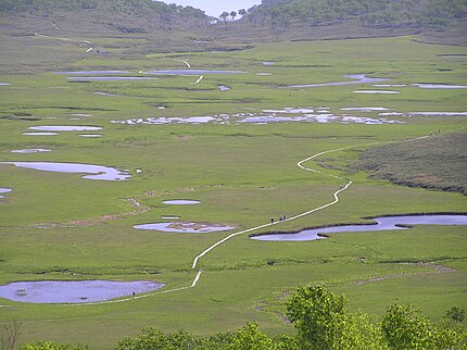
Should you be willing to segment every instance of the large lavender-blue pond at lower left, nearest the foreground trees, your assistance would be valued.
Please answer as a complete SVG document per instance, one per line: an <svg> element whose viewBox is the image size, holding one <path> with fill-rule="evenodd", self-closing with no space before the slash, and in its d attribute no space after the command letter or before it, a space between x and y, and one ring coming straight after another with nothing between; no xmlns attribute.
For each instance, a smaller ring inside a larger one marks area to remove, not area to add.
<svg viewBox="0 0 467 350"><path fill-rule="evenodd" d="M164 287L149 280L39 280L0 286L0 298L35 303L86 303L154 291Z"/></svg>

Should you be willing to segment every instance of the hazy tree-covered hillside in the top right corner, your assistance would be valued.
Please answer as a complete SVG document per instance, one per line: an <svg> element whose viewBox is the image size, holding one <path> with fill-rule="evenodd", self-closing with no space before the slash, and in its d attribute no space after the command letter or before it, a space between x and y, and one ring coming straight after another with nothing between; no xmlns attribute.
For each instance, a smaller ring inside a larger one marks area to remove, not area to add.
<svg viewBox="0 0 467 350"><path fill-rule="evenodd" d="M244 11L244 10L243 10ZM240 14L240 12L238 13ZM242 15L252 25L323 25L352 21L364 27L445 26L467 16L466 0L263 0ZM220 18L237 13L223 12Z"/></svg>

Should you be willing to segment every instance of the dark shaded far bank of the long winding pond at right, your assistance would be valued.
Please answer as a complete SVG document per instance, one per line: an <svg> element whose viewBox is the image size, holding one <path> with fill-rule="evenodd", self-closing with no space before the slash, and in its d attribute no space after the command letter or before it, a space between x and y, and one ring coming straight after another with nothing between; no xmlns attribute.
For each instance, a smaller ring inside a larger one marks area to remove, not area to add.
<svg viewBox="0 0 467 350"><path fill-rule="evenodd" d="M467 212L441 212L441 213L412 213L412 214L383 214L383 215L373 215L373 216L362 216L362 220L374 220L375 217L394 217L394 216L434 216L434 215L467 215ZM300 234L301 232L307 230L307 229L319 229L319 228L327 228L327 227L339 227L339 226L370 226L370 225L378 225L377 222L371 223L339 223L339 224L328 224L328 225L320 225L320 226L306 226L301 229L295 230L272 230L266 233L258 233L258 234L251 234L248 237L260 237L260 236L272 236L272 235L295 235ZM396 227L405 227L405 228L413 228L416 225L406 225L406 224L397 224ZM325 237L329 238L330 234L317 234L318 237Z"/></svg>

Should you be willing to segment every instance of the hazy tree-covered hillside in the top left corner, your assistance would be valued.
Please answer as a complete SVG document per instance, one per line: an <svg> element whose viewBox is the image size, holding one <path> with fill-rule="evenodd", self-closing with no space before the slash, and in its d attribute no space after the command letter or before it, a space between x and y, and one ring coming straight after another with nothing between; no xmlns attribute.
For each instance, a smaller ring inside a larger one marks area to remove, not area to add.
<svg viewBox="0 0 467 350"><path fill-rule="evenodd" d="M122 33L148 33L154 29L202 26L209 23L203 11L192 7L165 4L151 0L3 0L3 17L49 20L76 30L104 26ZM73 26L74 22L79 25Z"/></svg>

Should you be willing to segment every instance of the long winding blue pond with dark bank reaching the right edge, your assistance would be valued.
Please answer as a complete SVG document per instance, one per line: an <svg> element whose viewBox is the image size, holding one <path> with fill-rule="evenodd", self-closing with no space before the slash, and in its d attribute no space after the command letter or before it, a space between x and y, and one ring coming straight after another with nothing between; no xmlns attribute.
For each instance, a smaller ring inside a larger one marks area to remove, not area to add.
<svg viewBox="0 0 467 350"><path fill-rule="evenodd" d="M351 232L377 232L392 229L407 229L401 225L467 225L467 215L407 215L407 216L382 216L373 217L376 224L365 225L341 225L323 228L305 229L296 234L268 234L251 236L255 240L268 241L306 241L326 238L327 234L351 233Z"/></svg>

